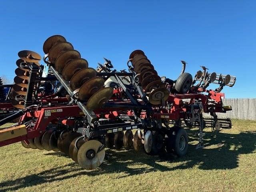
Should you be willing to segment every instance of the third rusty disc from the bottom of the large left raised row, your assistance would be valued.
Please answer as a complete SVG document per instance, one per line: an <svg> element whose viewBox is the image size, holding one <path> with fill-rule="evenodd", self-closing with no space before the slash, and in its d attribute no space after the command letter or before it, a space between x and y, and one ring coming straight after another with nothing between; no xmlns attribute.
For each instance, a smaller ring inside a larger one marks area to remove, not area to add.
<svg viewBox="0 0 256 192"><path fill-rule="evenodd" d="M82 86L86 81L91 78L96 77L96 70L94 68L84 68L80 69L78 72L72 76L70 79L70 88L76 90Z"/></svg>

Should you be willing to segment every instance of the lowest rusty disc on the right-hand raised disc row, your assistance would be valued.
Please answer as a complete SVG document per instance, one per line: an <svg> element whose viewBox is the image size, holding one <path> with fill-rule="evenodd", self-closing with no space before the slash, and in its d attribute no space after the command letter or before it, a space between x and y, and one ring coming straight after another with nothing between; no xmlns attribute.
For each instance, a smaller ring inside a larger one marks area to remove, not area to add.
<svg viewBox="0 0 256 192"><path fill-rule="evenodd" d="M148 96L148 101L152 105L160 105L160 104L162 104L162 100L164 100L164 102L166 102L166 100L169 97L169 94L170 94L170 92L168 89L157 88L153 92L150 93L150 95Z"/></svg>

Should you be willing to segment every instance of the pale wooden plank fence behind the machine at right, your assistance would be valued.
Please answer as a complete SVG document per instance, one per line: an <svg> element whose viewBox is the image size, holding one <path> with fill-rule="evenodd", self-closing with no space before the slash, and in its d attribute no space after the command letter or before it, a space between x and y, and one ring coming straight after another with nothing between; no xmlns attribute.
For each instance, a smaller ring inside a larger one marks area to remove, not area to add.
<svg viewBox="0 0 256 192"><path fill-rule="evenodd" d="M217 113L218 118L256 120L256 98L223 99L224 106L231 105L232 111ZM204 114L211 117L210 114Z"/></svg>

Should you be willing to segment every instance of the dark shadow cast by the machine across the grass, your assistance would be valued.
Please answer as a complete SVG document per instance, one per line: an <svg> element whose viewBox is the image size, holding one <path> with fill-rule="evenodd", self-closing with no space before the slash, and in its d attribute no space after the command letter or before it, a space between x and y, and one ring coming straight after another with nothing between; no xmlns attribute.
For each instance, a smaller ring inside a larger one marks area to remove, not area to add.
<svg viewBox="0 0 256 192"><path fill-rule="evenodd" d="M197 140L197 131L188 131L190 141ZM195 150L195 145L190 144L188 154L182 158L176 158L173 155L148 156L146 154L137 154L130 151L108 150L109 157L100 168L87 171L80 168L76 163L70 163L64 166L58 166L39 174L31 174L8 180L0 183L0 191L18 190L24 187L36 186L45 182L54 182L74 178L80 175L97 176L104 173L122 172L121 177L137 175L152 171L172 171L176 169L187 169L198 166L202 170L214 169L233 169L238 167L238 156L240 154L249 154L256 148L256 132L241 132L240 134L224 134L218 132L206 132L204 140L206 148ZM50 152L46 155L63 156L60 152ZM159 162L178 162L178 166L162 166ZM134 164L141 165L140 168L134 168ZM147 166L145 166L147 165Z"/></svg>

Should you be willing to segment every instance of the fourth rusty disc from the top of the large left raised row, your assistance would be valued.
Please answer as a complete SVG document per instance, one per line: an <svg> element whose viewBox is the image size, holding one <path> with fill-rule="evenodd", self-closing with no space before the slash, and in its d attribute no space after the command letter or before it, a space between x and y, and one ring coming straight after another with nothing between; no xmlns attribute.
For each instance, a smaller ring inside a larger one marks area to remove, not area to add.
<svg viewBox="0 0 256 192"><path fill-rule="evenodd" d="M66 64L66 66L62 70L62 77L64 78L64 80L70 81L70 79L76 72L84 68L88 68L87 60L83 58L74 59Z"/></svg>

